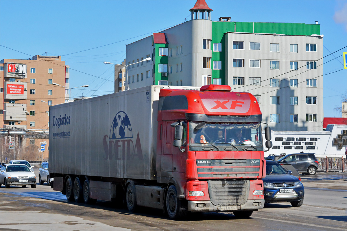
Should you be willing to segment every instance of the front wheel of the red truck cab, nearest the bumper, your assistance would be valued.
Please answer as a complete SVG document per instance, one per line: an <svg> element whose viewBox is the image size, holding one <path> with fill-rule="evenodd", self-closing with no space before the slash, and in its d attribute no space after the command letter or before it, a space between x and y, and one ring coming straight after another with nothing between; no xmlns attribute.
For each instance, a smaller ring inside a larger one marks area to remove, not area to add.
<svg viewBox="0 0 347 231"><path fill-rule="evenodd" d="M175 185L170 185L166 193L166 210L170 219L180 219L188 213L188 208L185 201L181 201L177 197Z"/></svg>

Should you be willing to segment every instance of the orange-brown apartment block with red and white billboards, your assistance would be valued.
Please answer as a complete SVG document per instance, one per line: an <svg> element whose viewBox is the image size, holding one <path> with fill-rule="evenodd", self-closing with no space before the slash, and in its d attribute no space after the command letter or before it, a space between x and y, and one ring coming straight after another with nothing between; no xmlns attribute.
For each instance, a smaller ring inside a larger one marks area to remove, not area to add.
<svg viewBox="0 0 347 231"><path fill-rule="evenodd" d="M35 55L3 59L0 70L0 126L48 132L49 106L69 99L69 66L60 56Z"/></svg>

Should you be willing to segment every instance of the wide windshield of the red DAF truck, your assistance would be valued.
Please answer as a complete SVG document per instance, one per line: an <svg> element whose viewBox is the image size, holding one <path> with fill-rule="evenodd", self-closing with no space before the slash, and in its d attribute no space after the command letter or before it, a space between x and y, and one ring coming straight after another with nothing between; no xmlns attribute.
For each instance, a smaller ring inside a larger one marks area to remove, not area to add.
<svg viewBox="0 0 347 231"><path fill-rule="evenodd" d="M261 124L206 122L202 126L200 121L189 122L189 150L202 151L206 147L216 151L263 151Z"/></svg>

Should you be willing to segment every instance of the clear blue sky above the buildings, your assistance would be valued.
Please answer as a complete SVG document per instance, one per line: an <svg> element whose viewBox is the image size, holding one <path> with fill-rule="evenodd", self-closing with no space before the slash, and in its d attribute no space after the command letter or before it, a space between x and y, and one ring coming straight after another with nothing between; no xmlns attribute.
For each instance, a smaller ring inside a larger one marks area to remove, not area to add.
<svg viewBox="0 0 347 231"><path fill-rule="evenodd" d="M62 55L61 59L70 66L70 87L90 86L71 90L72 97L109 94L114 91L114 69L103 61L120 63L126 57L126 44L190 20L189 9L195 2L1 0L0 60L28 59L45 52ZM206 0L206 3L213 9L213 21L221 16L250 22L319 21L324 35L323 56L347 46L346 1ZM91 48L95 49L88 50ZM337 59L323 65L323 74L343 68L342 52L347 52L347 48L333 54ZM323 62L333 59L333 55ZM323 97L324 117L340 117L334 108L341 106L341 96L347 93L347 69L319 78L323 78L323 96L319 98Z"/></svg>

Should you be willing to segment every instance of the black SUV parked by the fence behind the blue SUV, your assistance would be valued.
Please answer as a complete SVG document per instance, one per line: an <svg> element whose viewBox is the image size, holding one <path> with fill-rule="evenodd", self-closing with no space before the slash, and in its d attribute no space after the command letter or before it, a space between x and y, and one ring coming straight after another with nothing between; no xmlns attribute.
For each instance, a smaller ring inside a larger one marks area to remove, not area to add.
<svg viewBox="0 0 347 231"><path fill-rule="evenodd" d="M307 172L308 175L316 174L318 169L318 160L314 153L288 154L277 161L279 163L290 163L298 172Z"/></svg>

